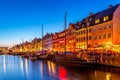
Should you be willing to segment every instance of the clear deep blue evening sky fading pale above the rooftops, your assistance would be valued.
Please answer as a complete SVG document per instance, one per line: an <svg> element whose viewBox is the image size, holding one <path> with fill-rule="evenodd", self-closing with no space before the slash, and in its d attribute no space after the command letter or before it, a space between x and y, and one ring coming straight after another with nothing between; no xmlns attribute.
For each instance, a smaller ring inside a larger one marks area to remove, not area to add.
<svg viewBox="0 0 120 80"><path fill-rule="evenodd" d="M67 25L97 13L120 0L0 0L0 46L11 47L35 37L64 29L64 13Z"/></svg>

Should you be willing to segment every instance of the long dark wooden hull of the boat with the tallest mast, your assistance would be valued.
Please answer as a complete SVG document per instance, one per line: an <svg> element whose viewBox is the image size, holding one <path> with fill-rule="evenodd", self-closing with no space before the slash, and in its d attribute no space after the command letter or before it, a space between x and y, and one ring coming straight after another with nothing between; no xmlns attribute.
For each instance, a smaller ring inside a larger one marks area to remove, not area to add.
<svg viewBox="0 0 120 80"><path fill-rule="evenodd" d="M76 66L76 67L95 67L96 62L94 59L82 59L82 58L71 58L65 55L56 55L56 62L65 65Z"/></svg>

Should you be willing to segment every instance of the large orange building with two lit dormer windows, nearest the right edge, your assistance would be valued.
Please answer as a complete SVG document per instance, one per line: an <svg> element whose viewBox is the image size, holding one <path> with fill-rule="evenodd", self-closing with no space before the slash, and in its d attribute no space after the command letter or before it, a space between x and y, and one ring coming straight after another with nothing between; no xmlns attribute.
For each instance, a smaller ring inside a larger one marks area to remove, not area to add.
<svg viewBox="0 0 120 80"><path fill-rule="evenodd" d="M120 44L120 5L98 12L92 26L93 47L110 49Z"/></svg>

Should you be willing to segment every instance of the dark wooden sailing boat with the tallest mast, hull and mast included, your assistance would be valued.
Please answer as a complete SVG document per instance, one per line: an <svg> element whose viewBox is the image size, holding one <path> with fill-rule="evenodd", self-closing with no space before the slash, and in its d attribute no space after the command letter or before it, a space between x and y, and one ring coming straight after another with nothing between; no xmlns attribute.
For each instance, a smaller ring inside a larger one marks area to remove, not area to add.
<svg viewBox="0 0 120 80"><path fill-rule="evenodd" d="M83 59L83 58L78 58L76 54L66 54L66 16L67 12L65 12L65 22L64 22L64 27L65 27L65 51L63 54L56 54L55 58L58 63L66 64L66 65L71 65L71 66L78 66L78 67L94 67L95 62L94 60L88 60L88 59ZM72 53L72 52L70 52Z"/></svg>

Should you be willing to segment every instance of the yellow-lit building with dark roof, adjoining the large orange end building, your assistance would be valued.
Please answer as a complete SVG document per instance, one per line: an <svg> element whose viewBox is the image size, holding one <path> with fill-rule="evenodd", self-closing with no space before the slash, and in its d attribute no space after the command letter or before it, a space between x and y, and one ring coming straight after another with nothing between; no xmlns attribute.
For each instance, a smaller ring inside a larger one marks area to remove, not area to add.
<svg viewBox="0 0 120 80"><path fill-rule="evenodd" d="M92 47L92 14L76 23L76 51Z"/></svg>

